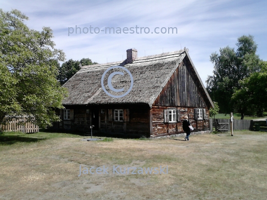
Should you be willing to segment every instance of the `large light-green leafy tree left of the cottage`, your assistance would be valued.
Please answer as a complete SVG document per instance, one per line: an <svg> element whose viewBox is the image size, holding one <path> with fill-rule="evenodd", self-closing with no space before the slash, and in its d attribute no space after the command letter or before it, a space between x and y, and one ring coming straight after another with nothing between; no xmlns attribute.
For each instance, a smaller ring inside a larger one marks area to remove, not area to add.
<svg viewBox="0 0 267 200"><path fill-rule="evenodd" d="M0 9L0 123L16 116L46 127L59 120L67 90L56 80L62 50L54 48L52 30L29 29L18 10Z"/></svg>

